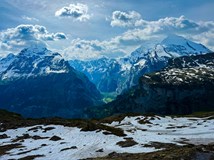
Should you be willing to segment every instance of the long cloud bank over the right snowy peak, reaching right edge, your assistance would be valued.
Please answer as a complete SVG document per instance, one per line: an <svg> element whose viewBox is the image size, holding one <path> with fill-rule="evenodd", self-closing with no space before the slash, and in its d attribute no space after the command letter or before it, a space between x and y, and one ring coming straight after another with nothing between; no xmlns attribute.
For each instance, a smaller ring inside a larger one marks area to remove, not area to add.
<svg viewBox="0 0 214 160"><path fill-rule="evenodd" d="M132 45L145 40L161 39L168 34L179 34L213 48L213 21L193 21L184 16L166 17L156 21L138 19L133 23L135 29L113 38L119 44ZM117 25L126 26L128 25Z"/></svg>

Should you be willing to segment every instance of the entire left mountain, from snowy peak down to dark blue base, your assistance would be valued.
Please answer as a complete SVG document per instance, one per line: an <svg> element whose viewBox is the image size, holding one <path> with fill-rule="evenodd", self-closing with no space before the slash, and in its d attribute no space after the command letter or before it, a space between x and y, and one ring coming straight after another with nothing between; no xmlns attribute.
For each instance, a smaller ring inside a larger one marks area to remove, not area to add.
<svg viewBox="0 0 214 160"><path fill-rule="evenodd" d="M59 53L33 46L0 61L0 108L27 117L81 117L101 95Z"/></svg>

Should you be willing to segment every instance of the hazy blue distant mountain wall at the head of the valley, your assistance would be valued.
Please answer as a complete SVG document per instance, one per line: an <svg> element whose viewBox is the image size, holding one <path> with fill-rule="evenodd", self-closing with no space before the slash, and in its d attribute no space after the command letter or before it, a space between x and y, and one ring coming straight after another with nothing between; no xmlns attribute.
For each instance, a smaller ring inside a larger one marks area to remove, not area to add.
<svg viewBox="0 0 214 160"><path fill-rule="evenodd" d="M122 80L121 76L118 77L121 73L121 65L115 59L73 60L69 63L76 70L83 72L102 92L115 92L118 81Z"/></svg>

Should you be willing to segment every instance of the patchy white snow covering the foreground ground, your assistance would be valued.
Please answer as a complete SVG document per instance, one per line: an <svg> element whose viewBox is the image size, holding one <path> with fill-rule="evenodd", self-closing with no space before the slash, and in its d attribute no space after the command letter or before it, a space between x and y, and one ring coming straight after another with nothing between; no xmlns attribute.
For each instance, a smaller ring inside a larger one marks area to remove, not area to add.
<svg viewBox="0 0 214 160"><path fill-rule="evenodd" d="M0 124L1 126L2 124ZM0 132L0 146L19 144L0 156L1 160L38 156L38 160L77 160L102 157L109 153L143 153L158 149L148 146L152 142L177 145L209 144L214 142L214 119L192 117L135 116L122 121L105 123L121 128L127 136L104 134L104 130L81 131L77 127L62 125L36 125ZM121 146L118 142L131 139L133 144ZM147 146L146 146L147 145Z"/></svg>

